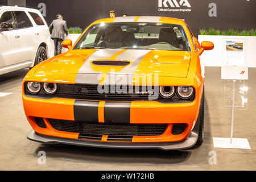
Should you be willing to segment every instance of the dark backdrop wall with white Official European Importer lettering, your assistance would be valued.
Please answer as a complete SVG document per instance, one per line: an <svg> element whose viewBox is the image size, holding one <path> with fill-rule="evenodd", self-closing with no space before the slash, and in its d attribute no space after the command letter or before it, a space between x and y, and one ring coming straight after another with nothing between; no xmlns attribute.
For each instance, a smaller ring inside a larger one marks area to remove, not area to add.
<svg viewBox="0 0 256 182"><path fill-rule="evenodd" d="M94 20L115 16L167 16L185 19L197 37L200 28L226 30L256 27L256 1L241 0L26 0L27 7L39 9L50 24L63 15L68 27L86 28ZM252 17L252 18L248 18Z"/></svg>

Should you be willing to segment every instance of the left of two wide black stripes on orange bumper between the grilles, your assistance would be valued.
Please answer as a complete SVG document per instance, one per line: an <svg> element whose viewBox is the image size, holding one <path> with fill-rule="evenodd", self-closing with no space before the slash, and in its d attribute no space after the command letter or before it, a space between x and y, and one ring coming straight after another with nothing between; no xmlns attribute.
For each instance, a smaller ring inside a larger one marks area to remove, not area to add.
<svg viewBox="0 0 256 182"><path fill-rule="evenodd" d="M98 122L99 101L76 100L74 103L75 121Z"/></svg>

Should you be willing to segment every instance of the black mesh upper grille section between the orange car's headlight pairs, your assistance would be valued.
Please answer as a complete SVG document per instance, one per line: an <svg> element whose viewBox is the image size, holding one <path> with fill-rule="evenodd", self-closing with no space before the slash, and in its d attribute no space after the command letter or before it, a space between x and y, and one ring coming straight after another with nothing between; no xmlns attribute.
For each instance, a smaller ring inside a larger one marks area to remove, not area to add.
<svg viewBox="0 0 256 182"><path fill-rule="evenodd" d="M118 101L134 101L134 100L148 100L148 94L138 94L137 92L147 91L142 86L129 86L122 88L122 85L109 85L108 88L101 88L104 93L98 92L98 85L73 85L73 84L58 84L56 95L60 97L80 98L88 100L118 100ZM112 91L113 90L113 91ZM122 91L125 90L125 93ZM152 86L154 90L154 86Z"/></svg>

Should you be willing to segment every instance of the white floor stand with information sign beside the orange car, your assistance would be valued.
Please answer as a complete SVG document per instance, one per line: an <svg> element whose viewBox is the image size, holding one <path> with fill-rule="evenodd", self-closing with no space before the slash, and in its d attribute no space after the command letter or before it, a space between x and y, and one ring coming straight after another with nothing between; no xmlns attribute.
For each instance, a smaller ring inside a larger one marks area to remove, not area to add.
<svg viewBox="0 0 256 182"><path fill-rule="evenodd" d="M235 105L236 98L236 81L248 80L245 39L223 39L224 57L221 67L221 79L233 80L232 93L232 115L231 115L231 129L230 138L213 137L214 148L239 148L251 149L250 144L246 138L233 138L234 127L234 110L237 109ZM234 46L235 45L235 46ZM243 105L244 106L244 105ZM242 107L243 107L242 106Z"/></svg>

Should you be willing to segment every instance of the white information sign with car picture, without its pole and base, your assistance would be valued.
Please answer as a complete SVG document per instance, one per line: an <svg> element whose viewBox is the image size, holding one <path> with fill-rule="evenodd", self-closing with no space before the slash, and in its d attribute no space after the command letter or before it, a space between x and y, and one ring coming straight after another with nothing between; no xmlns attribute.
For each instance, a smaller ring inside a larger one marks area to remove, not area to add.
<svg viewBox="0 0 256 182"><path fill-rule="evenodd" d="M221 67L221 79L248 80L248 67L245 60L245 39L223 39L224 59Z"/></svg>

